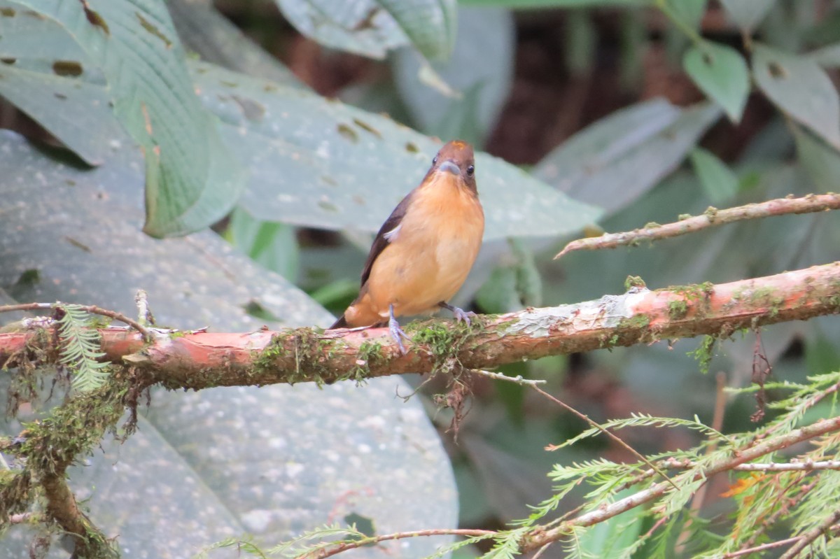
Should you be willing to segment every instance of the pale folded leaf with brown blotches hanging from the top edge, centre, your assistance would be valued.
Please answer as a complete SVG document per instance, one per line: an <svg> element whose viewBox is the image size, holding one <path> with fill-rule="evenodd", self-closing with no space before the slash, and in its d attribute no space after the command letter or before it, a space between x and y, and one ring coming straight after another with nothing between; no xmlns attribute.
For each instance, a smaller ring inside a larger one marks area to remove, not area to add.
<svg viewBox="0 0 840 559"><path fill-rule="evenodd" d="M372 58L413 44L430 59L449 56L455 0L276 0L283 15L319 43Z"/></svg>

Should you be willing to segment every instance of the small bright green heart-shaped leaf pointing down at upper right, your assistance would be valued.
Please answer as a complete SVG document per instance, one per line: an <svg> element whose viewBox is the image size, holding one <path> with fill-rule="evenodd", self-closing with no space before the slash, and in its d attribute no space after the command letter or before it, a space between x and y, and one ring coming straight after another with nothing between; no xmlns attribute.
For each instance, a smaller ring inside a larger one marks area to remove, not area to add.
<svg viewBox="0 0 840 559"><path fill-rule="evenodd" d="M722 44L704 41L685 52L685 72L701 91L738 123L749 95L747 62L737 51Z"/></svg>

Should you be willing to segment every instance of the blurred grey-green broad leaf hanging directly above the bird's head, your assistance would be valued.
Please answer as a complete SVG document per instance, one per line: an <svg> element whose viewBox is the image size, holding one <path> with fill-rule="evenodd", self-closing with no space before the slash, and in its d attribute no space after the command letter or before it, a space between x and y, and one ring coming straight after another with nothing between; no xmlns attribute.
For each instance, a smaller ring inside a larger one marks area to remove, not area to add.
<svg viewBox="0 0 840 559"><path fill-rule="evenodd" d="M445 64L433 66L438 76L459 91L458 98L447 97L418 81L423 62L411 50L396 53L391 67L397 89L424 133L483 143L496 125L512 85L514 33L513 18L507 10L460 10L452 56ZM493 60L493 64L486 64L486 60ZM474 118L473 126L470 117Z"/></svg>

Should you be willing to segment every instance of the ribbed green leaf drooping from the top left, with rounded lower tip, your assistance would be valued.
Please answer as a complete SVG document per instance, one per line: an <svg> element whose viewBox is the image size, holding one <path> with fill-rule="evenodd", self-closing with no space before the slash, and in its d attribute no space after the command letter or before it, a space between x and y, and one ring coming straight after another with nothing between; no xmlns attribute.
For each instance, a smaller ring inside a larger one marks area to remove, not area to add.
<svg viewBox="0 0 840 559"><path fill-rule="evenodd" d="M162 0L18 4L60 24L102 68L114 111L144 149L144 230L176 235L223 217L242 190L243 175L196 100Z"/></svg>

